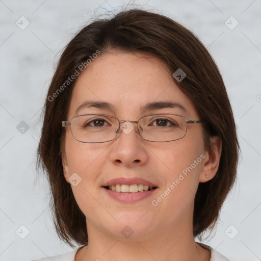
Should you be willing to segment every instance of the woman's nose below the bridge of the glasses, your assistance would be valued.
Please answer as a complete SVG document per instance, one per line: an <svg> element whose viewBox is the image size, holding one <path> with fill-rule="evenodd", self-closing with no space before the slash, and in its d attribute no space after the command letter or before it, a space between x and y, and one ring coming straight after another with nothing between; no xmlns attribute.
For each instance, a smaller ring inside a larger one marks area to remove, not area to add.
<svg viewBox="0 0 261 261"><path fill-rule="evenodd" d="M110 161L117 166L134 168L148 161L148 151L138 133L137 121L121 122L118 137L113 141Z"/></svg>

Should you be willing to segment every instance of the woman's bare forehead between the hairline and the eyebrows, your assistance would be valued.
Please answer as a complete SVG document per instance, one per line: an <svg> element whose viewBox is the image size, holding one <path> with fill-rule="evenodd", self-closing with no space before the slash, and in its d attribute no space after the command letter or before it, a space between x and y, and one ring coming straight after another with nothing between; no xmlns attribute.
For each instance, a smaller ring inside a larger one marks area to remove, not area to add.
<svg viewBox="0 0 261 261"><path fill-rule="evenodd" d="M178 103L187 115L196 116L195 106L175 84L166 64L149 54L114 51L92 61L76 79L69 117L90 100L110 103L117 116L140 115L147 103L155 101Z"/></svg>

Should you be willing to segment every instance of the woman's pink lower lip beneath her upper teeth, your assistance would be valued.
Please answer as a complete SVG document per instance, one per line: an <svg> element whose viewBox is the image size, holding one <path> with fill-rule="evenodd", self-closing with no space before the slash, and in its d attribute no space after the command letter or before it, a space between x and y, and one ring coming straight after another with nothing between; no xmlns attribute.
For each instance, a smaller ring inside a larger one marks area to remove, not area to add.
<svg viewBox="0 0 261 261"><path fill-rule="evenodd" d="M131 192L124 193L124 192L108 190L106 188L102 188L102 189L105 190L109 194L109 196L111 196L114 199L117 199L118 201L125 202L125 203L134 203L142 200L143 198L151 196L158 188L153 190L141 191L137 193L131 193Z"/></svg>

